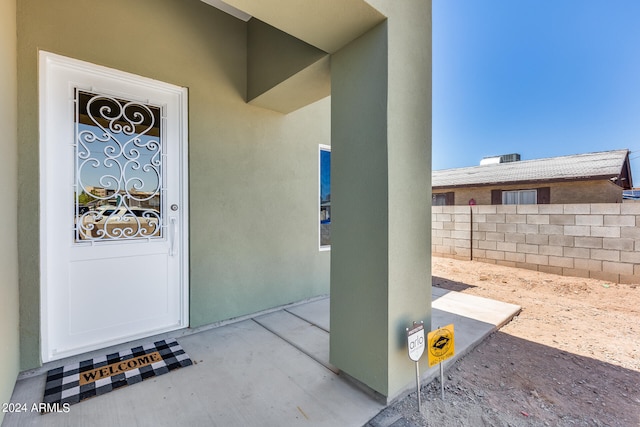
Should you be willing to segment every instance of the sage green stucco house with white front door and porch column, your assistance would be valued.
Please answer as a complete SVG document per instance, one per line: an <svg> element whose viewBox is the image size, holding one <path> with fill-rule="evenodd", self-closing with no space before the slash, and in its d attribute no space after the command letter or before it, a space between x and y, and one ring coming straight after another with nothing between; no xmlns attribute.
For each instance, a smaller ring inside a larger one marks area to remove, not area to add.
<svg viewBox="0 0 640 427"><path fill-rule="evenodd" d="M406 389L430 82L429 0L0 0L0 402L20 370L329 293L331 363ZM79 235L89 187L158 232Z"/></svg>

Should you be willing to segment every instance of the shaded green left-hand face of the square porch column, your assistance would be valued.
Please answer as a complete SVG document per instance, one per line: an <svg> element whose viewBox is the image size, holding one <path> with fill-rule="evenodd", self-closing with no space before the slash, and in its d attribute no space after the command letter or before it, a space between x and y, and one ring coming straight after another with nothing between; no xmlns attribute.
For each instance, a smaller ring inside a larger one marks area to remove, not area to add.
<svg viewBox="0 0 640 427"><path fill-rule="evenodd" d="M388 389L387 23L331 59L331 363Z"/></svg>

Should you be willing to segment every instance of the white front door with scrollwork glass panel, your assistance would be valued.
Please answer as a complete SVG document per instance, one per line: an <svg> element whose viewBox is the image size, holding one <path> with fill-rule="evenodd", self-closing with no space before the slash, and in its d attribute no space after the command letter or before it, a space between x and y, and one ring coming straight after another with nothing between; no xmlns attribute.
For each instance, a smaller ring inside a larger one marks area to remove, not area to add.
<svg viewBox="0 0 640 427"><path fill-rule="evenodd" d="M186 105L40 52L44 362L188 325Z"/></svg>

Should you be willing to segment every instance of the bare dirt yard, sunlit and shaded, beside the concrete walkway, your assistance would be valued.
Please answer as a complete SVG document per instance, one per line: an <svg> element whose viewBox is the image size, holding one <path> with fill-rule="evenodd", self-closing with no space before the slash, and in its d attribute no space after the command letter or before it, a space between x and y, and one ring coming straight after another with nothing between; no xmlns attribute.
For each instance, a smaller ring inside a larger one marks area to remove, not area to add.
<svg viewBox="0 0 640 427"><path fill-rule="evenodd" d="M522 306L445 372L389 408L399 425L640 426L640 284L433 259L433 284ZM395 425L395 424L394 424Z"/></svg>

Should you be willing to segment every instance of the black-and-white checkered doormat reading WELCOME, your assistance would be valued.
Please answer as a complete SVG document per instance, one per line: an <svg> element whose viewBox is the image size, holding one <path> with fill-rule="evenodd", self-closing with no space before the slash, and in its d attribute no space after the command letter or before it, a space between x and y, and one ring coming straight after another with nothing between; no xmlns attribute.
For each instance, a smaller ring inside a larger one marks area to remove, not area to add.
<svg viewBox="0 0 640 427"><path fill-rule="evenodd" d="M156 352L162 357L160 360L132 369L138 364L138 361L156 360L157 355L153 356ZM151 356L145 359L147 355ZM176 340L156 341L153 344L135 347L128 351L96 357L50 370L47 373L44 403L58 405L68 403L72 405L90 397L100 396L111 390L139 383L147 378L166 374L169 371L191 364L189 355L185 353ZM119 366L129 370L124 371L123 369L124 372L118 373ZM100 368L104 368L102 372L100 372ZM93 375L90 375L91 373ZM115 375L107 376L107 374L113 373ZM84 382L81 379L82 374L85 374L84 378L93 377L92 381L88 384L81 384Z"/></svg>

